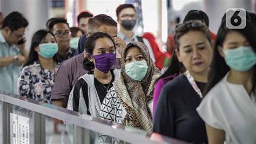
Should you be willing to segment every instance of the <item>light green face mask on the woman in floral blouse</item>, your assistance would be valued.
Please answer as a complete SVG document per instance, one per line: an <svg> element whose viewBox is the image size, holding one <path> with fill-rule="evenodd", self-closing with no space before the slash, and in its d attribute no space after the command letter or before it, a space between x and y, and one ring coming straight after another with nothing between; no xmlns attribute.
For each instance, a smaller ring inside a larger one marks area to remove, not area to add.
<svg viewBox="0 0 256 144"><path fill-rule="evenodd" d="M40 54L44 58L52 58L58 52L57 43L39 44Z"/></svg>

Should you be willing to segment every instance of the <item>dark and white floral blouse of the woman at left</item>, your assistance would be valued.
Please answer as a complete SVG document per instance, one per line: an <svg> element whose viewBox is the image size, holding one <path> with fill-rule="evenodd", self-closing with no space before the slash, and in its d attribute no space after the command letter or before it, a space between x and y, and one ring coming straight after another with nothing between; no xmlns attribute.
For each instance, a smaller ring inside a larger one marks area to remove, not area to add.
<svg viewBox="0 0 256 144"><path fill-rule="evenodd" d="M55 81L55 71L45 70L38 61L22 68L18 78L18 94L50 103L51 91Z"/></svg>

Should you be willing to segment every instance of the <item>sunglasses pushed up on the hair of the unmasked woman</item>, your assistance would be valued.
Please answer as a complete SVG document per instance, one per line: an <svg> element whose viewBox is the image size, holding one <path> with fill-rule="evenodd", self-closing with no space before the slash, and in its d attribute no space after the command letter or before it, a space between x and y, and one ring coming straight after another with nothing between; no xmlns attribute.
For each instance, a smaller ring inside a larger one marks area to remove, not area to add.
<svg viewBox="0 0 256 144"><path fill-rule="evenodd" d="M182 23L176 26L175 32L184 32L188 29L198 29L205 26L201 20L194 20L192 22Z"/></svg>

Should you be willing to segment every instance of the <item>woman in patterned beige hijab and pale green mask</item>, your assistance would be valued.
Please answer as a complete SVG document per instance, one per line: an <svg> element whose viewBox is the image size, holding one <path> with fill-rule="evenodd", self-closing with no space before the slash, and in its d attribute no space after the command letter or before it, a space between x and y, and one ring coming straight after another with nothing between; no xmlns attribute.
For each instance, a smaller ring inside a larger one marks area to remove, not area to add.
<svg viewBox="0 0 256 144"><path fill-rule="evenodd" d="M160 72L140 42L129 43L121 61L121 77L103 100L100 118L152 132L153 90Z"/></svg>

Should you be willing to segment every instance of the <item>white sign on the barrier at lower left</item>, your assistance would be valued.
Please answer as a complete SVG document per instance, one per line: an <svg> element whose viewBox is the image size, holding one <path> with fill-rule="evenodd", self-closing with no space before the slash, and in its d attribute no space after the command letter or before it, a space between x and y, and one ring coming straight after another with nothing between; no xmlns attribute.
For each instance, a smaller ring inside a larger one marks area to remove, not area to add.
<svg viewBox="0 0 256 144"><path fill-rule="evenodd" d="M29 144L29 118L10 113L10 136L13 144Z"/></svg>

